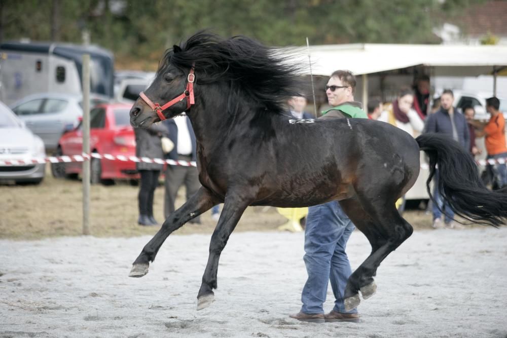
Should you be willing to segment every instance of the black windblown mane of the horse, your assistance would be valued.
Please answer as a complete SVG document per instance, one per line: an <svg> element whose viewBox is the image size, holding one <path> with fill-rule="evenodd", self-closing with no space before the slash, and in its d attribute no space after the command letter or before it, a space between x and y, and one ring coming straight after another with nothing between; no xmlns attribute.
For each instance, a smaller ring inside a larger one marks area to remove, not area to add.
<svg viewBox="0 0 507 338"><path fill-rule="evenodd" d="M289 60L246 36L222 39L200 31L165 52L157 75L170 65L187 70L195 64L197 83L229 82L229 95L249 98L250 105L280 113L286 99L301 92L298 72L302 66Z"/></svg>

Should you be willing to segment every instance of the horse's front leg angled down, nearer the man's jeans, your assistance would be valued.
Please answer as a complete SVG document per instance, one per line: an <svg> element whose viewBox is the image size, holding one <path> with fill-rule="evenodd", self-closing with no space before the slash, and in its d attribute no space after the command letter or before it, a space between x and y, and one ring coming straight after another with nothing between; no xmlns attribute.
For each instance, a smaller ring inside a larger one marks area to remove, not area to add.
<svg viewBox="0 0 507 338"><path fill-rule="evenodd" d="M201 288L197 294L197 310L210 306L214 301L213 289L216 289L217 285L216 274L220 254L249 202L237 197L226 197L225 199L224 209L209 243L208 262L202 276Z"/></svg>

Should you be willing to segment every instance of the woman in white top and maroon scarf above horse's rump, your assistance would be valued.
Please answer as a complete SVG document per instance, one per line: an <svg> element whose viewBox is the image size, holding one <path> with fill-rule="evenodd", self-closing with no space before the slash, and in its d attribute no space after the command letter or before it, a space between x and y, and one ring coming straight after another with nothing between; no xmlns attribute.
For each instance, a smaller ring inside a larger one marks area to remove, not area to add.
<svg viewBox="0 0 507 338"><path fill-rule="evenodd" d="M412 136L417 136L424 129L424 122L412 109L414 93L409 88L403 88L398 97L392 102L387 110L380 116L379 120L388 122Z"/></svg>

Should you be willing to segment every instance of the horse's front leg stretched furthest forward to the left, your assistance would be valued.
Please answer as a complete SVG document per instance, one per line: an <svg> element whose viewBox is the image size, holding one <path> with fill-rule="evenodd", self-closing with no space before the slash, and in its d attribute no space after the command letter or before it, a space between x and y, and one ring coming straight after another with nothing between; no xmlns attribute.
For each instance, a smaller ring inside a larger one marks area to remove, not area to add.
<svg viewBox="0 0 507 338"><path fill-rule="evenodd" d="M142 248L141 253L135 259L129 277L142 277L148 273L150 261L155 260L158 250L165 239L175 230L181 228L183 224L194 217L209 210L213 205L220 203L216 197L211 195L205 187L195 193L180 208L172 212L164 221L160 230L155 234L148 244Z"/></svg>

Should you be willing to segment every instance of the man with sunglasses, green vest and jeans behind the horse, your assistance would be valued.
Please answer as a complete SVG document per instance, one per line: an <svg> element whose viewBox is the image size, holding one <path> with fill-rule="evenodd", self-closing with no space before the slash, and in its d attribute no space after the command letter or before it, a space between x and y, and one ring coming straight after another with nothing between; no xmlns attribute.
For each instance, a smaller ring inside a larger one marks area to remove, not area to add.
<svg viewBox="0 0 507 338"><path fill-rule="evenodd" d="M360 118L368 119L361 103L354 101L355 78L348 70L337 70L331 74L325 93L333 108L323 111L320 119ZM352 273L345 253L345 246L354 224L343 212L338 201L308 208L305 228L305 265L308 279L303 288L303 306L291 318L300 321L358 322L357 309L345 311L343 294ZM335 296L333 310L324 315L323 303L328 292L328 281Z"/></svg>

